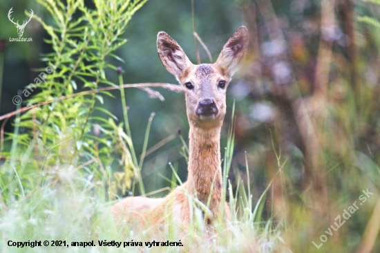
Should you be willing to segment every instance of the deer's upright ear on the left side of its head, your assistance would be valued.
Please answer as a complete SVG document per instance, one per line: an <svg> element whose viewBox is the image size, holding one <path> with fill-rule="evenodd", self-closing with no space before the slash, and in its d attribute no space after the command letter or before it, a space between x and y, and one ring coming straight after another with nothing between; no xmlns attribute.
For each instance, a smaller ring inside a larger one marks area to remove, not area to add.
<svg viewBox="0 0 380 253"><path fill-rule="evenodd" d="M191 66L189 58L187 58L180 45L166 32L158 32L157 50L162 64L177 79Z"/></svg>

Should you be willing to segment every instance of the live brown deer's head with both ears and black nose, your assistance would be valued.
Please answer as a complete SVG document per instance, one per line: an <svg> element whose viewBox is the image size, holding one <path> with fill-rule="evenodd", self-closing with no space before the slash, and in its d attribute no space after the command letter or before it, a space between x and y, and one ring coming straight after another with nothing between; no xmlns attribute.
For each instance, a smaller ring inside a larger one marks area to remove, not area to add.
<svg viewBox="0 0 380 253"><path fill-rule="evenodd" d="M162 64L180 85L190 90L186 94L186 108L193 127L221 127L226 113L226 88L247 46L247 28L241 26L227 41L216 63L194 65L172 37L158 32L157 48Z"/></svg>

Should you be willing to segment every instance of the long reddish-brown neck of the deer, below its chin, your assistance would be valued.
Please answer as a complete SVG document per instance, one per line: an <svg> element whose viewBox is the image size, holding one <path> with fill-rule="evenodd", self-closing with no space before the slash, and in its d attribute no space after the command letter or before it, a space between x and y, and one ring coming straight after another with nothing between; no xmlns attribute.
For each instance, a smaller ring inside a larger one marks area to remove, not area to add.
<svg viewBox="0 0 380 253"><path fill-rule="evenodd" d="M211 209L222 199L222 171L220 167L220 126L202 129L190 126L189 131L189 176L187 191L197 195L207 204L211 185Z"/></svg>

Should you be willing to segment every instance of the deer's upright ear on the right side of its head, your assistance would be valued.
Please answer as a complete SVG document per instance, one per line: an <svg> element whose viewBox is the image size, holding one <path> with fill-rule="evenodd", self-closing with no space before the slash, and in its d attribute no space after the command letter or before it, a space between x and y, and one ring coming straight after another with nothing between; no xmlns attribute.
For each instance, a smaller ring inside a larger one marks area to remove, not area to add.
<svg viewBox="0 0 380 253"><path fill-rule="evenodd" d="M223 46L222 53L216 60L216 64L231 77L238 70L241 59L247 53L247 48L247 28L240 26Z"/></svg>

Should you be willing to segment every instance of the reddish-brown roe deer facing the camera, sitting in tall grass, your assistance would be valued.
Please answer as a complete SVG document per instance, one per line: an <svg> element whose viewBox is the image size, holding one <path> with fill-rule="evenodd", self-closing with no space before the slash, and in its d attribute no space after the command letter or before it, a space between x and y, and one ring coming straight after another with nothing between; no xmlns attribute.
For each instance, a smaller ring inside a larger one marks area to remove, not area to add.
<svg viewBox="0 0 380 253"><path fill-rule="evenodd" d="M222 203L220 129L226 113L226 88L247 46L247 28L241 26L227 41L215 64L194 65L172 37L166 32L158 32L157 48L162 64L180 85L190 90L186 94L190 124L189 176L187 182L165 198L124 198L112 207L116 221L137 221L144 226L146 221L163 223L164 215L169 214L174 223L186 227L191 219L189 196L207 205L210 193L212 216L205 217L207 223L223 216L230 220L227 202ZM225 214L222 214L222 205L225 205Z"/></svg>

